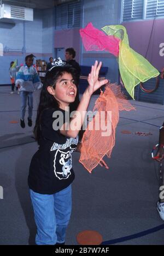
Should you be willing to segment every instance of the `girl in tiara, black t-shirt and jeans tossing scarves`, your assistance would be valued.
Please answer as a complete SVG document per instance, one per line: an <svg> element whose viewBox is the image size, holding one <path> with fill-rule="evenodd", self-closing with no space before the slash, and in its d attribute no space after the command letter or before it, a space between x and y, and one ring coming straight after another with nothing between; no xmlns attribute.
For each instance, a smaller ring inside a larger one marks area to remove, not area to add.
<svg viewBox="0 0 164 256"><path fill-rule="evenodd" d="M59 60L46 73L34 127L39 149L33 155L28 176L37 225L36 244L65 243L74 180L72 153L78 146L78 135L85 118L83 113L92 93L108 82L98 81L100 68L101 62L96 61L80 102L77 74L73 68ZM66 120L68 107L70 113L76 112L72 119Z"/></svg>

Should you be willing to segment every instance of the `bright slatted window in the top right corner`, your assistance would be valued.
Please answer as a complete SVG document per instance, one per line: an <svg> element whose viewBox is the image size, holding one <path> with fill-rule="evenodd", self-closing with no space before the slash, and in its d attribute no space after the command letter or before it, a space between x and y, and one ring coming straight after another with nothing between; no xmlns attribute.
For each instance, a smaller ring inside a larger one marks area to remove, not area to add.
<svg viewBox="0 0 164 256"><path fill-rule="evenodd" d="M164 0L122 0L122 21L164 17Z"/></svg>

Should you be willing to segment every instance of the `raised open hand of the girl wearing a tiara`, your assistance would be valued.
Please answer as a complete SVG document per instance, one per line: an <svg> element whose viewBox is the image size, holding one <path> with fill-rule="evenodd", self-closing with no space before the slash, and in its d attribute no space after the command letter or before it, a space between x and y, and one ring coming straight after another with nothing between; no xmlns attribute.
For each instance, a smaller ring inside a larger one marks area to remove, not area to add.
<svg viewBox="0 0 164 256"><path fill-rule="evenodd" d="M95 92L98 88L102 85L107 84L108 80L105 79L103 81L98 81L98 74L101 68L102 62L95 62L95 65L92 65L91 73L89 74L87 81L89 82L89 86L87 87L87 91L89 92L90 96L93 92Z"/></svg>

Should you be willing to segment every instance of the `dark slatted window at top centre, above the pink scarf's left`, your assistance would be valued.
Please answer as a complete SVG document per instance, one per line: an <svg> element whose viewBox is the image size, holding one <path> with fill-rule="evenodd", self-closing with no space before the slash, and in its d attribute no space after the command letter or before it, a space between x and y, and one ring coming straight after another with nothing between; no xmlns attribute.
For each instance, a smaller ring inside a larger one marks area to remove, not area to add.
<svg viewBox="0 0 164 256"><path fill-rule="evenodd" d="M57 5L55 15L56 29L80 27L80 14L80 1Z"/></svg>

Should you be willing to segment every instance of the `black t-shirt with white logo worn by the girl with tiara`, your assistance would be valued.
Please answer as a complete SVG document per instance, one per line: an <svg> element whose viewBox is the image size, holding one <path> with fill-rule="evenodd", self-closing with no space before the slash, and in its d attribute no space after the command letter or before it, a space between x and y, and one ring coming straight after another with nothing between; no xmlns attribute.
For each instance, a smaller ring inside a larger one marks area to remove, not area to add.
<svg viewBox="0 0 164 256"><path fill-rule="evenodd" d="M65 123L65 111L63 113ZM68 187L74 180L72 153L77 148L77 138L63 136L52 127L55 109L43 111L39 150L33 155L28 176L28 186L40 194L54 194Z"/></svg>

